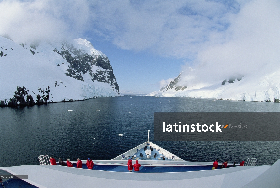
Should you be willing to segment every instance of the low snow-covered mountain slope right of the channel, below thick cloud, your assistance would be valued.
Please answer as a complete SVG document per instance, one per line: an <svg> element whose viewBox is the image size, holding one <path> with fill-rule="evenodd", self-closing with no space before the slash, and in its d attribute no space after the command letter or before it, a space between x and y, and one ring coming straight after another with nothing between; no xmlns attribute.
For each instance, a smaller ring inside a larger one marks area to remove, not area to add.
<svg viewBox="0 0 280 188"><path fill-rule="evenodd" d="M148 96L214 98L223 100L279 102L280 68L255 72L250 76L229 77L216 83L187 84L181 73L167 86Z"/></svg>

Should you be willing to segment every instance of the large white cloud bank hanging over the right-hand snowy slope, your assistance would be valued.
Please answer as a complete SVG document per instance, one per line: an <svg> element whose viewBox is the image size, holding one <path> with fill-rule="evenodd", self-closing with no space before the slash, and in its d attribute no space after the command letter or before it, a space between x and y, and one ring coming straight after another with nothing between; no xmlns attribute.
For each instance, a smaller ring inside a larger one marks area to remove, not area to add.
<svg viewBox="0 0 280 188"><path fill-rule="evenodd" d="M251 1L231 18L223 43L198 52L189 85L236 75L266 74L280 63L280 2ZM185 68L184 68L185 69ZM261 76L261 75L260 75Z"/></svg>

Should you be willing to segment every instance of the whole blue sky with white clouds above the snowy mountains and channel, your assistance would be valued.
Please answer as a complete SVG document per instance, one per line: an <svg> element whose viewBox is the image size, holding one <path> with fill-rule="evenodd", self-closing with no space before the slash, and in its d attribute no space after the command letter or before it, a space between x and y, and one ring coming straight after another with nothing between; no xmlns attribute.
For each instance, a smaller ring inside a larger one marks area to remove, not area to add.
<svg viewBox="0 0 280 188"><path fill-rule="evenodd" d="M0 0L0 34L88 39L108 56L120 91L148 94L181 71L196 84L256 71L260 59L279 63L279 10L277 0Z"/></svg>

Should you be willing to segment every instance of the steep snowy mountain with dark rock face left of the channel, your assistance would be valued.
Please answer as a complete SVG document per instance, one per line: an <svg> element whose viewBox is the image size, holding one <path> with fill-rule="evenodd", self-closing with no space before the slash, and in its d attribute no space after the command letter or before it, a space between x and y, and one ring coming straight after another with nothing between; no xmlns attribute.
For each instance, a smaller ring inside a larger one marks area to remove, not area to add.
<svg viewBox="0 0 280 188"><path fill-rule="evenodd" d="M15 43L0 36L0 104L119 96L109 59L85 39Z"/></svg>

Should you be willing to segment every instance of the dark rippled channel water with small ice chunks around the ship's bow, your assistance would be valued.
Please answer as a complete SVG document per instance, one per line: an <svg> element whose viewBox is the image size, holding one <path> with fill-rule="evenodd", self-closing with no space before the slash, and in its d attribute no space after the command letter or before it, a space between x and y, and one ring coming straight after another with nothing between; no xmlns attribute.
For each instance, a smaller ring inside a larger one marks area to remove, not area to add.
<svg viewBox="0 0 280 188"><path fill-rule="evenodd" d="M55 159L112 159L147 141L147 130L153 141L153 112L280 112L280 103L125 96L4 107L0 166L38 165L38 156L45 154ZM256 165L272 165L280 159L280 142L154 143L186 161L239 163L255 157Z"/></svg>

